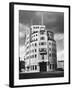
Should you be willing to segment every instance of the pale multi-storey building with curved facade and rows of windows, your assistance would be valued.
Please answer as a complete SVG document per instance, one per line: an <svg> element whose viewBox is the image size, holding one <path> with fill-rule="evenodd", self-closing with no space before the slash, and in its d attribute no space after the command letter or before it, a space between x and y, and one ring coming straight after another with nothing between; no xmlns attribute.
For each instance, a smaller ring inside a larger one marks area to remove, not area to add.
<svg viewBox="0 0 72 90"><path fill-rule="evenodd" d="M48 72L57 68L54 33L45 25L31 25L26 30L25 72Z"/></svg>

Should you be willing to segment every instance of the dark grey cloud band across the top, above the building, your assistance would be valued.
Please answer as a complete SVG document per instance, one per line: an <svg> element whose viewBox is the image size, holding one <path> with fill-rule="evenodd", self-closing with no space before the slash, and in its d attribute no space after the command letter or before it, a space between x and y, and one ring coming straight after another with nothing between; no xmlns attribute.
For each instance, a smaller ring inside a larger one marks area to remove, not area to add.
<svg viewBox="0 0 72 90"><path fill-rule="evenodd" d="M41 24L41 13L43 14L43 23L46 29L53 29L54 33L64 31L64 13L48 11L24 11L19 12L19 22L28 26L32 24Z"/></svg>

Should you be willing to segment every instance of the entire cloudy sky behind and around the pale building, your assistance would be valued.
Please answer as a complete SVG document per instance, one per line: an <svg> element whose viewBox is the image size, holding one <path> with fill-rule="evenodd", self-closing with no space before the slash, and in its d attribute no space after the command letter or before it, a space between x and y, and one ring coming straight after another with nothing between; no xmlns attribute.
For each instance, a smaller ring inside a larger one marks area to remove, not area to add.
<svg viewBox="0 0 72 90"><path fill-rule="evenodd" d="M57 44L57 59L64 59L64 13L46 12L46 11L19 11L19 42L20 57L24 57L25 32L31 24L41 24L43 15L43 24L46 29L54 32L54 39Z"/></svg>

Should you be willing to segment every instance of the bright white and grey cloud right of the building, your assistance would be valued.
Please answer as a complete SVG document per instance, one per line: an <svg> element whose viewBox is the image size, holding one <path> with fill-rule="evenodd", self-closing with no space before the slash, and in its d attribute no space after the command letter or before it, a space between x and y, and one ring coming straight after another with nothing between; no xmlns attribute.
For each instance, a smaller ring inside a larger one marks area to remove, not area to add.
<svg viewBox="0 0 72 90"><path fill-rule="evenodd" d="M56 33L54 39L57 46L57 60L64 60L64 34Z"/></svg>

